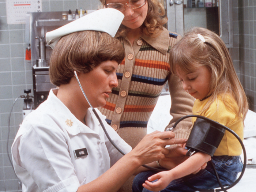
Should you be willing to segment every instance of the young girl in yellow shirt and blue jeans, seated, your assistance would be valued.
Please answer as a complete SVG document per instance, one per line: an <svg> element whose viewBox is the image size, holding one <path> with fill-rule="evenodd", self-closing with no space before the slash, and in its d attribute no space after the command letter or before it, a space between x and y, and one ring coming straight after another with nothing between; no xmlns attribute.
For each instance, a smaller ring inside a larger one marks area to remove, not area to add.
<svg viewBox="0 0 256 192"><path fill-rule="evenodd" d="M217 34L204 28L189 31L171 50L170 67L180 78L184 90L196 99L193 114L217 121L243 139L243 121L248 103L229 51ZM192 123L195 120L192 118ZM241 172L240 154L240 143L226 131L212 157L223 186L232 184ZM210 159L210 155L198 152L174 169L148 177L143 184L146 188L143 192L195 191L186 183L200 189L217 188L219 184L211 165L197 174L191 174ZM154 180L157 181L152 182Z"/></svg>

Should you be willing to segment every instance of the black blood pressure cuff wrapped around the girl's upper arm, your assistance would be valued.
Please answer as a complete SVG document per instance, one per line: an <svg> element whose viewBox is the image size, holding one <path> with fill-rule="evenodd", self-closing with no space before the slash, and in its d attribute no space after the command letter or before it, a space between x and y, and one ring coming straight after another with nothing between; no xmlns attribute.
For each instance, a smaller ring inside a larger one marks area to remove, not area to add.
<svg viewBox="0 0 256 192"><path fill-rule="evenodd" d="M202 118L197 118L186 144L186 147L189 149L188 153L191 153L191 151L201 151L212 157L219 143L221 143L225 131L225 129L218 125L214 125Z"/></svg>

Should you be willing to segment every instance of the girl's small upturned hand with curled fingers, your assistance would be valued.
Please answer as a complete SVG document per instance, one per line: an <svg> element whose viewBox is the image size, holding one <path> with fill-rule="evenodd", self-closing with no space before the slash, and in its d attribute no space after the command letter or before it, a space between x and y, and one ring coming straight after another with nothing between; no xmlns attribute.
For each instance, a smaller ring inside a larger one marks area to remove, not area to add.
<svg viewBox="0 0 256 192"><path fill-rule="evenodd" d="M143 183L143 187L150 191L161 191L162 189L166 188L172 181L172 177L169 173L170 172L168 171L164 171L148 177L148 181L145 181L145 183Z"/></svg>

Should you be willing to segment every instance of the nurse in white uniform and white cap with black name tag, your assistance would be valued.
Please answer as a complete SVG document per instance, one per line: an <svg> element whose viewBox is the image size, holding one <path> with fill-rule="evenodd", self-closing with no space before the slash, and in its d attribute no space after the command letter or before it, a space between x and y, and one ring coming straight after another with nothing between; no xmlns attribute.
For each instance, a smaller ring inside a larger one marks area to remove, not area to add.
<svg viewBox="0 0 256 192"><path fill-rule="evenodd" d="M102 9L46 34L54 48L50 80L59 89L50 90L48 99L25 118L12 144L23 192L115 192L132 174L146 170L142 165L157 167L155 161L167 154L186 153L165 148L185 142L174 139L173 132L151 133L132 150L95 109L110 138L127 153L121 155L80 90L74 71L94 108L104 106L118 86L116 70L125 53L113 37L123 17Z"/></svg>

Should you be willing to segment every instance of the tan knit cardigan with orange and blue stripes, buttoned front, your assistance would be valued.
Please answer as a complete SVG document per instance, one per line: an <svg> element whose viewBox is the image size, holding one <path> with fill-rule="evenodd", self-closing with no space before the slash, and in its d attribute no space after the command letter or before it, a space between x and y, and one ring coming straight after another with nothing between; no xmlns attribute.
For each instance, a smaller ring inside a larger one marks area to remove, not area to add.
<svg viewBox="0 0 256 192"><path fill-rule="evenodd" d="M177 76L170 73L169 50L181 38L165 28L156 38L141 36L133 46L127 37L117 37L125 48L125 59L118 66L118 87L104 107L106 121L133 148L147 133L147 123L167 80L172 99L170 124L192 113L194 99L182 89ZM191 121L176 128L176 137L187 138Z"/></svg>

